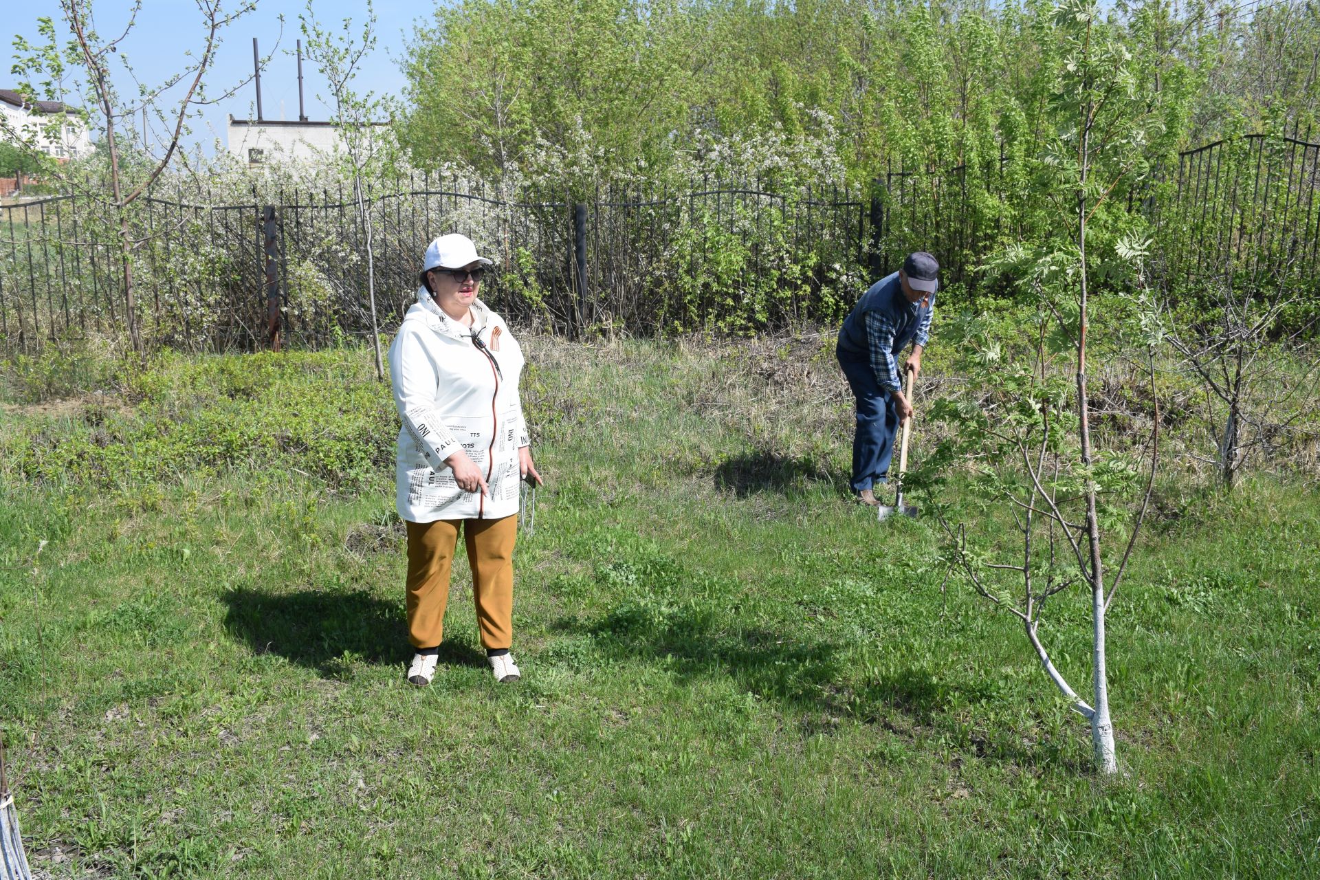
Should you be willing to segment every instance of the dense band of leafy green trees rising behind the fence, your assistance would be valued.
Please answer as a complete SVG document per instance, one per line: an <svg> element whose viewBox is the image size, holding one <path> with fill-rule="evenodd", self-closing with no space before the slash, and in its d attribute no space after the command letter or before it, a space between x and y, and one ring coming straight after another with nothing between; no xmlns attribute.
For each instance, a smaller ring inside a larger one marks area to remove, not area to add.
<svg viewBox="0 0 1320 880"><path fill-rule="evenodd" d="M892 165L1012 181L1015 160L1048 136L1061 51L1052 11L1049 0L441 4L409 45L403 137L425 166L503 172L548 146L603 170L656 170L719 139L818 133L828 119L854 179ZM1305 128L1313 17L1299 4L1249 15L1125 0L1106 22L1143 88L1193 92L1166 129L1209 137L1232 108ZM1245 29L1257 21L1267 33Z"/></svg>

